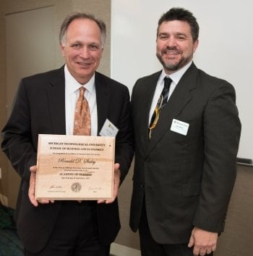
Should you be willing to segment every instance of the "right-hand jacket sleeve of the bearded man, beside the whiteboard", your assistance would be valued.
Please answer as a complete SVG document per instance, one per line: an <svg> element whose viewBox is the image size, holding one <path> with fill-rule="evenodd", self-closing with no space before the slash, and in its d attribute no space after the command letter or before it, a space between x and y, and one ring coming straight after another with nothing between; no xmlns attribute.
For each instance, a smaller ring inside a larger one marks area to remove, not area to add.
<svg viewBox="0 0 253 256"><path fill-rule="evenodd" d="M203 113L205 162L194 226L221 232L236 179L241 123L233 86L222 81Z"/></svg>

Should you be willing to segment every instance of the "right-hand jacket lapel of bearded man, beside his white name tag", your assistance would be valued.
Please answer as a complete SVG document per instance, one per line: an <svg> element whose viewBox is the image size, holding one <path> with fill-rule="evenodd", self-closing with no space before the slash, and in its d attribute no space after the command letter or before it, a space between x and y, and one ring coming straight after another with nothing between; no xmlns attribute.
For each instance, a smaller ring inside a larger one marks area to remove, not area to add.
<svg viewBox="0 0 253 256"><path fill-rule="evenodd" d="M171 128L173 118L176 118L192 99L190 91L196 88L197 67L192 64L176 86L166 107L160 113L158 124L152 133L150 143L147 147L147 154L155 147L163 136Z"/></svg>

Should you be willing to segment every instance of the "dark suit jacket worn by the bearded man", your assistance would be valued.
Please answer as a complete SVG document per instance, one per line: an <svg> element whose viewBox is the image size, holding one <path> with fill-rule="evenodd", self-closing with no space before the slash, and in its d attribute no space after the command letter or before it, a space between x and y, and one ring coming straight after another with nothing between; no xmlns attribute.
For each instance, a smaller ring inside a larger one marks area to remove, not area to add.
<svg viewBox="0 0 253 256"><path fill-rule="evenodd" d="M236 178L241 124L233 86L192 64L160 114L150 141L148 117L160 72L132 91L135 163L130 226L137 231L145 198L155 241L189 241L193 226L221 232ZM189 124L186 136L172 120Z"/></svg>

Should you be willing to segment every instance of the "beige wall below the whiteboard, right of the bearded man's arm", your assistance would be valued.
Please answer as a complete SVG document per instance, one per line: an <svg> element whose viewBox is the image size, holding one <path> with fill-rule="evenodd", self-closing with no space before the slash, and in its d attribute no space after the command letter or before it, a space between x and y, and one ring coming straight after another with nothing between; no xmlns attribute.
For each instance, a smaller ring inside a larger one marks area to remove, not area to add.
<svg viewBox="0 0 253 256"><path fill-rule="evenodd" d="M253 255L253 168L238 165L224 233L215 256Z"/></svg>

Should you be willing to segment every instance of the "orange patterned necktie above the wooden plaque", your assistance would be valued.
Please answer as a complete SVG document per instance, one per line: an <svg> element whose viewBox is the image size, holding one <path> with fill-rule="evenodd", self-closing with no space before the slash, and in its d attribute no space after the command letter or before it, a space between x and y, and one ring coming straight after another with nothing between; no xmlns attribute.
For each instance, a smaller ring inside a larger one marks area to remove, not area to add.
<svg viewBox="0 0 253 256"><path fill-rule="evenodd" d="M80 87L80 96L74 110L74 135L90 135L90 108L85 99L85 88Z"/></svg>

